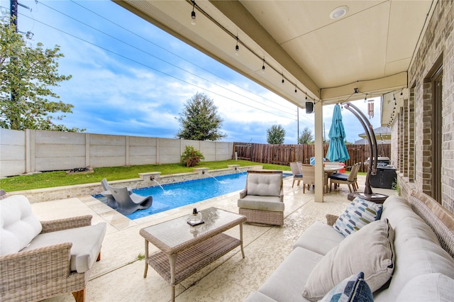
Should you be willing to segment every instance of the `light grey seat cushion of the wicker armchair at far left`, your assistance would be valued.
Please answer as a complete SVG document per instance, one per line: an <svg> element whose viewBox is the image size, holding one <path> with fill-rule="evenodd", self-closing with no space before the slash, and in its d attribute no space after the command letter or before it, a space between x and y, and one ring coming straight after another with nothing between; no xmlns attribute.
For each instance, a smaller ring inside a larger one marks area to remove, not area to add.
<svg viewBox="0 0 454 302"><path fill-rule="evenodd" d="M23 251L63 242L72 242L70 251L71 270L83 273L87 272L96 261L105 234L106 223L43 233L36 236L31 244L24 248Z"/></svg>

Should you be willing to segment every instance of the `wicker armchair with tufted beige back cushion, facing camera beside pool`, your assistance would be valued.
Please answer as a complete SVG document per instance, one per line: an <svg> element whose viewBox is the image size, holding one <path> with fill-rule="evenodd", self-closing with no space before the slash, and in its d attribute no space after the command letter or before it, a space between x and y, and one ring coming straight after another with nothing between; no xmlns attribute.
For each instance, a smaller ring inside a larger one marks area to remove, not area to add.
<svg viewBox="0 0 454 302"><path fill-rule="evenodd" d="M248 223L284 225L282 171L248 171L238 208L239 213L248 218Z"/></svg>

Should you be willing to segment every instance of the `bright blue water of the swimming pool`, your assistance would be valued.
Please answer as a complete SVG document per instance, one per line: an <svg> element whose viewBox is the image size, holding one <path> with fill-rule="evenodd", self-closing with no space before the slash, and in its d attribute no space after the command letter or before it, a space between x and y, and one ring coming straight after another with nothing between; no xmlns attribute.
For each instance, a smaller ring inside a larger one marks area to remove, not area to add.
<svg viewBox="0 0 454 302"><path fill-rule="evenodd" d="M284 173L284 177L289 176L292 176L292 174ZM216 176L216 178L208 177L177 182L175 184L163 184L162 189L160 186L133 189L135 194L141 196L152 195L153 205L148 209L135 211L126 217L132 220L143 218L168 211L172 208L178 208L187 204L204 201L205 199L240 191L244 189L245 183L246 174L236 173Z"/></svg>

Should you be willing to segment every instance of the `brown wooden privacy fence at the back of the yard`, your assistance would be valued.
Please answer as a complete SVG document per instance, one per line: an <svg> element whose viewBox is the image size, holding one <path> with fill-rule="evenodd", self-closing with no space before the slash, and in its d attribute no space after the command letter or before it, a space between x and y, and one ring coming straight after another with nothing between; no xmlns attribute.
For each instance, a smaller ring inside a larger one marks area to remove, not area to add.
<svg viewBox="0 0 454 302"><path fill-rule="evenodd" d="M364 163L369 157L369 145L346 145L350 160L345 162L347 167L353 166L356 162ZM326 156L328 145L323 145L323 157ZM391 145L378 145L378 155L391 155ZM283 164L290 162L308 163L311 157L315 156L315 145L269 145L245 142L233 142L233 158L238 160L250 160L262 164ZM367 172L364 164L360 172Z"/></svg>

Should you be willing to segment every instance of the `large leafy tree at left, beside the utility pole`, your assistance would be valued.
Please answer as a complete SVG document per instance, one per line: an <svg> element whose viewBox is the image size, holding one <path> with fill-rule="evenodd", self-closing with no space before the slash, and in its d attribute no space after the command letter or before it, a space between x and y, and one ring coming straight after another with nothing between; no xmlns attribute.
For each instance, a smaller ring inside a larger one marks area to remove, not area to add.
<svg viewBox="0 0 454 302"><path fill-rule="evenodd" d="M59 86L71 76L58 74L57 60L64 57L60 47L44 49L42 43L29 47L13 24L1 21L0 28L0 127L13 130L38 129L78 132L79 128L56 125L53 120L72 113L71 104L62 101L49 87Z"/></svg>

